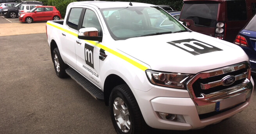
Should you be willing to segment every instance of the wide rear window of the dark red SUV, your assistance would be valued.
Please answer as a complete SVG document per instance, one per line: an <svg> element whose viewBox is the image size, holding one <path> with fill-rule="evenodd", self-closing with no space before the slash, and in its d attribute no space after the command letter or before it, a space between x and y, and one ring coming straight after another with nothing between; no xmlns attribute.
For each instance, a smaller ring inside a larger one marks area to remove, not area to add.
<svg viewBox="0 0 256 134"><path fill-rule="evenodd" d="M181 19L192 19L195 25L215 28L218 3L184 3Z"/></svg>

